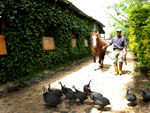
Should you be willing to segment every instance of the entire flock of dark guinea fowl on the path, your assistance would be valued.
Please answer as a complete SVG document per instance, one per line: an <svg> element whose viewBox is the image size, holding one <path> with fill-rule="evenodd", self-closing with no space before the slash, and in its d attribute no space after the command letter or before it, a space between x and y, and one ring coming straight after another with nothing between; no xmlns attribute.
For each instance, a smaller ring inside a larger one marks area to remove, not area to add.
<svg viewBox="0 0 150 113"><path fill-rule="evenodd" d="M92 81L90 80L88 84L83 86L83 91L80 91L76 89L75 85L72 86L74 90L71 88L66 87L65 85L62 85L61 82L59 82L61 86L61 90L59 89L51 89L51 85L48 85L48 90L46 86L43 86L42 89L44 91L43 98L44 101L48 106L56 107L58 104L62 102L61 97L64 95L65 99L69 100L70 102L76 102L76 100L79 100L79 102L82 104L86 99L88 99L88 96L92 99L92 105L98 105L101 107L101 110L103 111L104 107L107 105L110 105L110 101L108 98L104 97L99 92L91 91L90 83ZM129 93L130 88L127 88L126 96L125 98L133 105L136 102L136 95L133 93ZM143 98L144 102L150 101L150 92L144 91L144 89L141 89L141 96Z"/></svg>

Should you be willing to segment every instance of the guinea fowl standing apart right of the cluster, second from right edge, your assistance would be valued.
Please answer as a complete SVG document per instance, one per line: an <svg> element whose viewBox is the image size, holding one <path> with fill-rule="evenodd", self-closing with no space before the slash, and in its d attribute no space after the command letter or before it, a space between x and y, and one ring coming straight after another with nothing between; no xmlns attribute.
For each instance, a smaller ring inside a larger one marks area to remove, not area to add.
<svg viewBox="0 0 150 113"><path fill-rule="evenodd" d="M129 93L130 88L127 88L127 92L126 92L126 99L131 102L131 105L134 104L134 102L136 101L136 96L133 93Z"/></svg>

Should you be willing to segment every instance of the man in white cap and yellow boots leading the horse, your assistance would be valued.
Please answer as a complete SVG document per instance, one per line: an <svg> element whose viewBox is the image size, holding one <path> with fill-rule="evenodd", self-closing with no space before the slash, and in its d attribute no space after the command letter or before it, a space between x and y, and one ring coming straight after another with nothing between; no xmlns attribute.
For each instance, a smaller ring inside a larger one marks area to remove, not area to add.
<svg viewBox="0 0 150 113"><path fill-rule="evenodd" d="M127 41L126 38L121 35L121 29L117 29L117 36L113 37L109 44L105 47L108 47L113 44L114 50L114 68L115 68L115 75L122 75L122 65L123 65L123 56L125 49L125 55L127 55ZM118 63L119 63L119 71L118 71Z"/></svg>

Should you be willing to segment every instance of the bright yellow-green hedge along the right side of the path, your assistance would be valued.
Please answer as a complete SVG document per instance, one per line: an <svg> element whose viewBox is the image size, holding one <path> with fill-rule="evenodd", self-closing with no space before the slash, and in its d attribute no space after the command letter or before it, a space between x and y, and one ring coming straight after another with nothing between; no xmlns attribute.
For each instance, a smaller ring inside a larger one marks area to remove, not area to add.
<svg viewBox="0 0 150 113"><path fill-rule="evenodd" d="M150 6L150 5L149 5ZM150 70L150 8L136 6L130 9L130 44L129 47L137 55L141 70Z"/></svg>

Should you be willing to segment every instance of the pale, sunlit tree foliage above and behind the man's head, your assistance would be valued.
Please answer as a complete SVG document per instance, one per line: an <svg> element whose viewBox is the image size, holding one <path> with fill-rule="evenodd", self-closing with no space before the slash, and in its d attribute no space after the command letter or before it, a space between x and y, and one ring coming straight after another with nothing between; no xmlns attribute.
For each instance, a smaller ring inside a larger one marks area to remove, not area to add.
<svg viewBox="0 0 150 113"><path fill-rule="evenodd" d="M113 4L112 6L109 6L108 9L111 9L115 12L113 14L108 13L111 19L110 26L114 27L114 30L111 31L111 36L116 36L116 29L121 28L122 35L128 40L129 19L127 15L128 5L126 1L122 0L119 4Z"/></svg>

